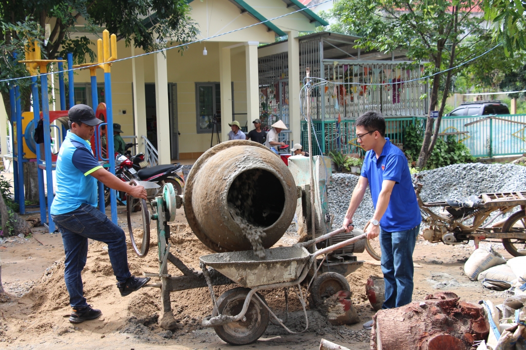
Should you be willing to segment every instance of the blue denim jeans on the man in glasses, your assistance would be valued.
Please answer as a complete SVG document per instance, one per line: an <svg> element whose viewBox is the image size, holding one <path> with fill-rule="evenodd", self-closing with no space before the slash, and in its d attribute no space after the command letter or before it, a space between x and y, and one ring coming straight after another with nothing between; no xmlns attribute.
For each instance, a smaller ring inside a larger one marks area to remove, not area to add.
<svg viewBox="0 0 526 350"><path fill-rule="evenodd" d="M398 232L387 232L380 227L382 272L386 283L386 300L382 309L407 305L413 295L413 250L420 225Z"/></svg>

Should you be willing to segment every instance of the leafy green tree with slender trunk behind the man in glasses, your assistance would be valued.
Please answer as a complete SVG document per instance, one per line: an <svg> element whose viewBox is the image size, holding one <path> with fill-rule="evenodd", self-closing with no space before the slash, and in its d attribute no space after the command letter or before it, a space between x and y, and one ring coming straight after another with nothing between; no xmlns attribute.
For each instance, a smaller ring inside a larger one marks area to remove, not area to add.
<svg viewBox="0 0 526 350"><path fill-rule="evenodd" d="M430 81L429 110L438 110L439 117L428 117L418 158L421 168L439 139L441 118L456 73L451 68L491 47L492 38L480 5L481 1L474 0L340 0L330 13L337 19L336 29L361 37L358 47L362 49L403 50L411 60L429 62L429 73L450 69Z"/></svg>

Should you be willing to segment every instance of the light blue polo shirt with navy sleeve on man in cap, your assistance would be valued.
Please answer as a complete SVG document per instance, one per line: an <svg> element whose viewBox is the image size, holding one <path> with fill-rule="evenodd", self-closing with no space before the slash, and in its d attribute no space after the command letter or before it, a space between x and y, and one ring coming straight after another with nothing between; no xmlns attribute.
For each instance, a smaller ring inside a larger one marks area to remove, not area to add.
<svg viewBox="0 0 526 350"><path fill-rule="evenodd" d="M60 146L55 171L57 189L51 214L66 214L83 203L97 206L97 179L89 174L102 166L93 156L89 142L68 130Z"/></svg>

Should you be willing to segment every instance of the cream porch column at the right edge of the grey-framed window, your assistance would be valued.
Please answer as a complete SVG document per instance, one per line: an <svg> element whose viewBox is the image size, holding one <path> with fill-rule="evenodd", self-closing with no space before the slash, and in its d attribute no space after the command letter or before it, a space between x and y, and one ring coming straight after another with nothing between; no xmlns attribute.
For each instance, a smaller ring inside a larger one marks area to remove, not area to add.
<svg viewBox="0 0 526 350"><path fill-rule="evenodd" d="M232 78L230 74L230 49L219 44L219 82L221 83L221 141L228 141L232 121Z"/></svg>

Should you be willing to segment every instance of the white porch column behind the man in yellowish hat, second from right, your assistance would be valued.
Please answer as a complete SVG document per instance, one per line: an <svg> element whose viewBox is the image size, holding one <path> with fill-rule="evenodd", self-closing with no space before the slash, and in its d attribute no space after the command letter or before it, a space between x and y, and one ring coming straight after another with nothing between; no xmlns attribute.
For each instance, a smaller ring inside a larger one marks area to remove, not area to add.
<svg viewBox="0 0 526 350"><path fill-rule="evenodd" d="M252 129L252 121L259 118L259 76L258 41L245 44L245 63L247 70L247 122Z"/></svg>

